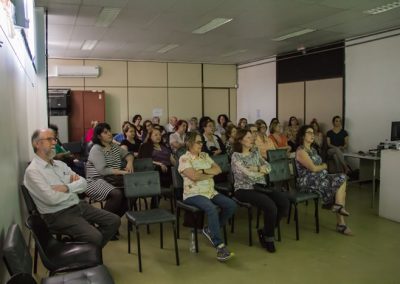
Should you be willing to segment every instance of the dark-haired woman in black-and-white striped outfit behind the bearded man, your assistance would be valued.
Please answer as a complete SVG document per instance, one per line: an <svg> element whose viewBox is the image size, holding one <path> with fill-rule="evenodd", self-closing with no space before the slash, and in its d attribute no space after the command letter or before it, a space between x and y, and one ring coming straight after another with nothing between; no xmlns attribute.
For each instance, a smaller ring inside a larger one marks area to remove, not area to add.
<svg viewBox="0 0 400 284"><path fill-rule="evenodd" d="M133 172L133 155L113 142L107 123L97 124L92 141L86 164L86 194L93 200L106 200L104 209L122 216L127 210L122 175ZM125 168L122 160L126 160Z"/></svg>

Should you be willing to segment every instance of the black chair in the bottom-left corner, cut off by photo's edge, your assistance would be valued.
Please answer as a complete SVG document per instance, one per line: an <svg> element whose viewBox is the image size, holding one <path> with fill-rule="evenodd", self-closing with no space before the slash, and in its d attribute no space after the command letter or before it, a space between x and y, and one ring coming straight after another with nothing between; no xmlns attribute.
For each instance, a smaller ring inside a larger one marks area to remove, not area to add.
<svg viewBox="0 0 400 284"><path fill-rule="evenodd" d="M36 284L32 277L32 259L29 249L17 224L8 228L3 244L3 258L7 270L11 275L9 284ZM114 281L104 265L84 270L64 273L45 278L42 283L104 283L113 284Z"/></svg>

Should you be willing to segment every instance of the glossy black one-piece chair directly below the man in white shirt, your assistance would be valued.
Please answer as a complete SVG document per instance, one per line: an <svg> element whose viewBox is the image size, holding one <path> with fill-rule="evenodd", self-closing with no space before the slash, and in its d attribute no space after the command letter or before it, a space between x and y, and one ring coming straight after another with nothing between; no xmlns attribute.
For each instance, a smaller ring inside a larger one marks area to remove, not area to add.
<svg viewBox="0 0 400 284"><path fill-rule="evenodd" d="M38 214L30 215L26 226L32 231L43 265L56 273L82 270L103 263L101 248L82 242L61 242L53 237Z"/></svg>

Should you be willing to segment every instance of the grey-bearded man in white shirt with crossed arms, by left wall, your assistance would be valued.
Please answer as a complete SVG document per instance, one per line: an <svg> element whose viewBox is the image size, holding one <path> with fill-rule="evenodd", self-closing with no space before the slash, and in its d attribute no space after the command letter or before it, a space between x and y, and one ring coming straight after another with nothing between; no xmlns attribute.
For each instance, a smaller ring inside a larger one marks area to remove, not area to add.
<svg viewBox="0 0 400 284"><path fill-rule="evenodd" d="M78 193L86 190L86 180L53 160L57 143L53 130L36 130L31 142L35 156L25 171L24 185L49 229L104 247L117 232L120 218L80 202Z"/></svg>

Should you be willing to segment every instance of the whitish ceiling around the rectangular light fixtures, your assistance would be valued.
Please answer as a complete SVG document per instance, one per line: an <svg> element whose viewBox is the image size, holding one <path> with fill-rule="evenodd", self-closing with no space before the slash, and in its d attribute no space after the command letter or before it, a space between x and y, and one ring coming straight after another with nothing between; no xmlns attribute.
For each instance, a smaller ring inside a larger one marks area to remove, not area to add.
<svg viewBox="0 0 400 284"><path fill-rule="evenodd" d="M363 11L394 0L36 0L47 7L49 57L245 63L400 26L400 8ZM108 28L95 26L103 7L120 7ZM214 18L233 18L206 34L191 32ZM282 42L304 28L316 32ZM84 40L98 40L91 51ZM157 53L161 47L179 47Z"/></svg>

